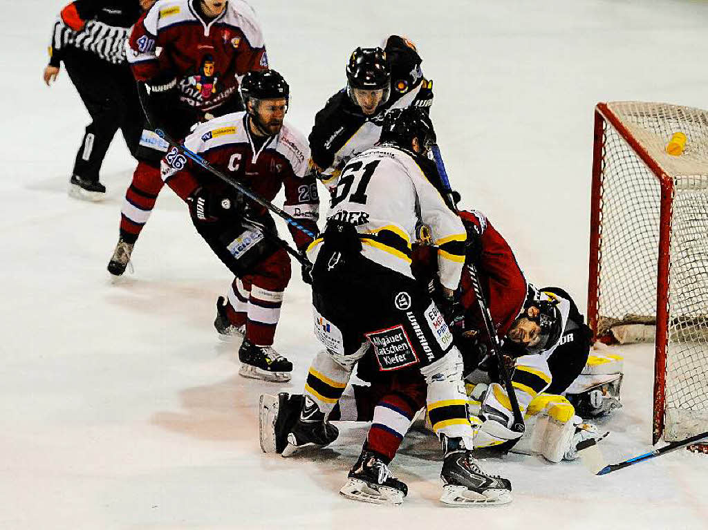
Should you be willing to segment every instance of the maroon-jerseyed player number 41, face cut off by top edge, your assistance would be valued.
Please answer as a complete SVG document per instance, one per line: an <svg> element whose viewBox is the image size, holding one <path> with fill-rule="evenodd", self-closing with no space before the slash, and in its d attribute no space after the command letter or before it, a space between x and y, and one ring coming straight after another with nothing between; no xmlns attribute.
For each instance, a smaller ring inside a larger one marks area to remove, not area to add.
<svg viewBox="0 0 708 530"><path fill-rule="evenodd" d="M261 25L244 0L160 1L135 24L127 59L147 87L144 106L152 125L142 133L121 209L120 237L108 263L115 276L125 272L163 185L159 165L168 144L154 127L179 139L195 123L243 110L238 79L268 67Z"/></svg>

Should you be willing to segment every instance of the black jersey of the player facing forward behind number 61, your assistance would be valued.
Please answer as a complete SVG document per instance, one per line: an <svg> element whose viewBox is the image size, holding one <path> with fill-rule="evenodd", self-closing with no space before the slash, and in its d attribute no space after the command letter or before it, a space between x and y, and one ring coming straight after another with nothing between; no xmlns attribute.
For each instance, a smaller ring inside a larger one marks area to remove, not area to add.
<svg viewBox="0 0 708 530"><path fill-rule="evenodd" d="M336 185L339 172L352 156L379 141L387 110L411 105L428 108L433 102L432 83L423 78L422 59L415 46L397 35L389 37L385 46L391 68L387 103L377 113L365 115L343 88L315 116L309 135L310 150L312 161L322 170L320 178L328 188Z"/></svg>

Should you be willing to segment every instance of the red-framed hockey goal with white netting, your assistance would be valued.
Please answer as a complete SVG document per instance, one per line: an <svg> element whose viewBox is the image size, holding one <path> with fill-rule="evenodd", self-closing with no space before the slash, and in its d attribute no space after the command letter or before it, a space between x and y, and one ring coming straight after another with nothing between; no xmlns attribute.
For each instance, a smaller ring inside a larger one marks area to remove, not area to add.
<svg viewBox="0 0 708 530"><path fill-rule="evenodd" d="M588 321L653 340L654 443L708 431L708 112L595 108Z"/></svg>

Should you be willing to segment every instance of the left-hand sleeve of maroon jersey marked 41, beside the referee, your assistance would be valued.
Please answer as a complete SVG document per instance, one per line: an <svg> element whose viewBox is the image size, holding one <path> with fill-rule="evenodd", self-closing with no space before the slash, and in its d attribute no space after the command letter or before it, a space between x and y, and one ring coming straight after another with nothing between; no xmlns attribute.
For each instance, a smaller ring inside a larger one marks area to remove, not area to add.
<svg viewBox="0 0 708 530"><path fill-rule="evenodd" d="M157 2L138 19L125 43L128 64L138 81L152 79L160 69L156 50L161 5L162 2Z"/></svg>

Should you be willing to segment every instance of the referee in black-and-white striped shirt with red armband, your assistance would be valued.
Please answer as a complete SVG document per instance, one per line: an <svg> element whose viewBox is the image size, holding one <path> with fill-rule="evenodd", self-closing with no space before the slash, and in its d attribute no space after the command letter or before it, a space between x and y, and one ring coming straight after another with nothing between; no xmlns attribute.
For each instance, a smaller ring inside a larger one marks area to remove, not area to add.
<svg viewBox="0 0 708 530"><path fill-rule="evenodd" d="M125 60L125 42L142 9L154 0L75 0L62 9L52 32L44 81L57 79L62 61L91 116L76 153L69 195L102 200L99 173L108 146L120 129L135 155L142 132L142 108Z"/></svg>

